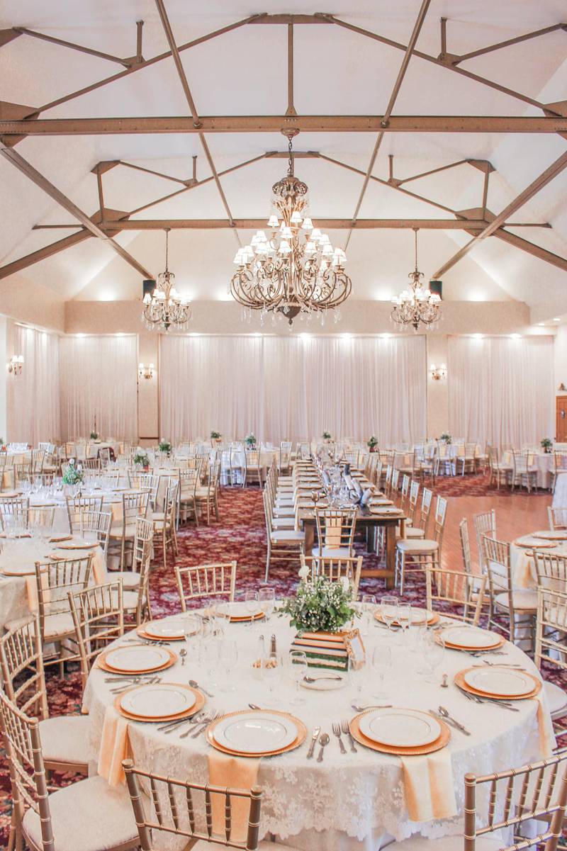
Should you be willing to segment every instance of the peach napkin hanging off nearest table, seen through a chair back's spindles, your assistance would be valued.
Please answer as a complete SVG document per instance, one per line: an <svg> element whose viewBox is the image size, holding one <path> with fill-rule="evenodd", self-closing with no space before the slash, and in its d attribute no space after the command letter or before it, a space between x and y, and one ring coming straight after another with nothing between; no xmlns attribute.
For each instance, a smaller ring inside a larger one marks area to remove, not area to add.
<svg viewBox="0 0 567 851"><path fill-rule="evenodd" d="M260 760L249 757L229 757L219 751L211 751L209 762L209 783L231 789L249 790L258 782ZM225 798L212 795L213 833L225 836ZM250 801L249 798L231 797L231 840L246 842L248 835Z"/></svg>

